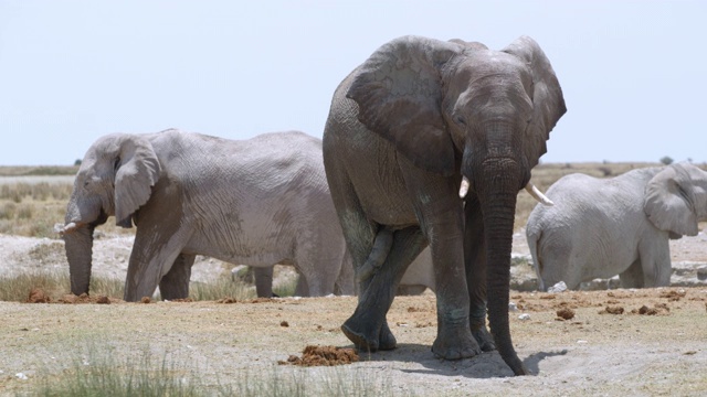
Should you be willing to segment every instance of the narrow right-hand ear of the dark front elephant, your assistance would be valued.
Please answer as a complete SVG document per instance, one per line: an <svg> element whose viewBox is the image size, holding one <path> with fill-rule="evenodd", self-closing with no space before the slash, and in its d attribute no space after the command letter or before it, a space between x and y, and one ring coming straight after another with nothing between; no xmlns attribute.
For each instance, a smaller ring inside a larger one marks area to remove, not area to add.
<svg viewBox="0 0 707 397"><path fill-rule="evenodd" d="M523 60L532 74L532 88L529 95L532 98L534 110L526 132L529 140L529 144L526 144L526 160L528 165L534 168L538 164L540 157L547 152L546 142L550 139L550 131L567 111L562 88L550 65L550 60L531 37L520 36L503 52Z"/></svg>

